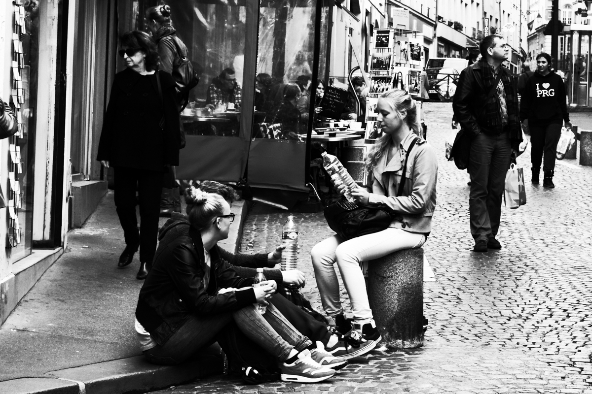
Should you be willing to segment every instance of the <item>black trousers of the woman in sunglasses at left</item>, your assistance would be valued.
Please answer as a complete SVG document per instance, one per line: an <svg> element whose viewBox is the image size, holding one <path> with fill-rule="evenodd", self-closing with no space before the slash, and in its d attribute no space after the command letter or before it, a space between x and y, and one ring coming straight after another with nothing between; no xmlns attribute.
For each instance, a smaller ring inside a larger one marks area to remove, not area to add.
<svg viewBox="0 0 592 394"><path fill-rule="evenodd" d="M156 252L162 171L114 168L115 207L126 245L140 243L140 261L152 263ZM140 205L140 232L136 219L136 189Z"/></svg>

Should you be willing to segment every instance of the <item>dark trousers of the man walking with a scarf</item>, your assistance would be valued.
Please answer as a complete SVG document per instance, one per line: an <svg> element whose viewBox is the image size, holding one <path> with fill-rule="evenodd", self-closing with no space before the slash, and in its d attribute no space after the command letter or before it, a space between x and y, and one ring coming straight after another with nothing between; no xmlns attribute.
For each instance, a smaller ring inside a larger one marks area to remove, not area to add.
<svg viewBox="0 0 592 394"><path fill-rule="evenodd" d="M497 236L500 227L501 194L510 165L510 135L479 133L471 143L469 213L475 241Z"/></svg>

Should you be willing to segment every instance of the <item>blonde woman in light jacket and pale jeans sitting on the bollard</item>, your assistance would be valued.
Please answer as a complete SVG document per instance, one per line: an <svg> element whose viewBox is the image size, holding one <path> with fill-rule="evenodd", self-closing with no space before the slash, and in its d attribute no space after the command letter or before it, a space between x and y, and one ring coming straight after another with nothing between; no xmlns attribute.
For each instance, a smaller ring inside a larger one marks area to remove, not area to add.
<svg viewBox="0 0 592 394"><path fill-rule="evenodd" d="M432 146L417 136L420 125L416 103L407 92L385 92L378 99L377 112L382 136L366 159L368 185L355 185L350 191L359 203L390 210L392 222L385 230L349 240L329 237L314 246L311 258L323 308L334 319L336 330L344 336L378 343L382 337L374 323L359 264L397 250L420 248L426 242L436 206L438 165ZM397 197L407 156L403 193ZM346 187L339 181L336 188L345 194ZM353 327L343 314L335 263L351 301Z"/></svg>

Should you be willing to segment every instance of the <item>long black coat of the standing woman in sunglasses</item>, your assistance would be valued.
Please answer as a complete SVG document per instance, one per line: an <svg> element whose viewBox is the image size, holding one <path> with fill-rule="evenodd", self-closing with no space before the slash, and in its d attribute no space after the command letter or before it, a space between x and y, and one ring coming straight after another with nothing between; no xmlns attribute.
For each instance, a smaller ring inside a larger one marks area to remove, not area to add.
<svg viewBox="0 0 592 394"><path fill-rule="evenodd" d="M107 160L112 167L153 171L179 165L181 134L175 82L169 73L157 72L164 103L158 94L156 73L141 75L125 69L115 74L97 160ZM163 114L164 129L159 124Z"/></svg>

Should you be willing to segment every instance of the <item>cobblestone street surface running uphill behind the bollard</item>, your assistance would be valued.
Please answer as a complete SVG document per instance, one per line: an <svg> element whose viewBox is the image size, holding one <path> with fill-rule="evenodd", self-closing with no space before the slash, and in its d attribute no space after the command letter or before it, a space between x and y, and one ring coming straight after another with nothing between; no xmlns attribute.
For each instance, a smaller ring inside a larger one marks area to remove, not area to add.
<svg viewBox="0 0 592 394"><path fill-rule="evenodd" d="M439 159L433 231L423 246L435 273L435 281L424 282L424 346L375 350L319 384L245 386L217 376L158 393L592 393L592 167L558 161L555 189L532 185L529 145L518 159L526 206L502 207L503 249L472 252L468 174L444 157L452 105L426 103L424 110L427 141ZM287 216L255 204L242 252L278 245ZM322 212L296 213L295 220L303 292L322 311L310 250L332 232Z"/></svg>

